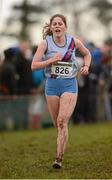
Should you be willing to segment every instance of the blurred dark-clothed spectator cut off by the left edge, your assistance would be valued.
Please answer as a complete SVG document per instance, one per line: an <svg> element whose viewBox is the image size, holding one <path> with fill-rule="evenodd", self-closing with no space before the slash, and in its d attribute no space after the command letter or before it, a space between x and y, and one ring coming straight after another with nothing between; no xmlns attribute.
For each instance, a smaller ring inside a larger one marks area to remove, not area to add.
<svg viewBox="0 0 112 180"><path fill-rule="evenodd" d="M4 61L0 66L0 94L14 95L17 93L16 56L11 48L4 51Z"/></svg>

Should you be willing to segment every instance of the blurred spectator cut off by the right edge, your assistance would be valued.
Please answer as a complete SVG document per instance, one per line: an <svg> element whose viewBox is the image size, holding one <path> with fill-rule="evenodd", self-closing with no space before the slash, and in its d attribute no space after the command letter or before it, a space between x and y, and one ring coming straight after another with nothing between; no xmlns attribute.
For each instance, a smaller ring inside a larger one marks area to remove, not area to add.
<svg viewBox="0 0 112 180"><path fill-rule="evenodd" d="M99 80L99 97L102 100L104 119L112 120L111 86L112 86L112 39L106 40L108 54L103 58L102 72Z"/></svg>

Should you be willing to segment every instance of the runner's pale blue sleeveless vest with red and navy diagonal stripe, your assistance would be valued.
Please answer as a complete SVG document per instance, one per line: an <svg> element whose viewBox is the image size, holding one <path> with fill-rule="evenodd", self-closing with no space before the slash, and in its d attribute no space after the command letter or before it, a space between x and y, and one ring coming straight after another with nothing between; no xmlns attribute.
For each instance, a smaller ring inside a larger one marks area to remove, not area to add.
<svg viewBox="0 0 112 180"><path fill-rule="evenodd" d="M76 47L75 47L75 42L74 42L73 37L70 36L70 35L66 35L66 43L65 43L64 46L58 46L54 42L52 36L47 36L46 37L46 41L47 41L47 50L46 50L46 53L44 55L43 60L47 60L49 58L52 58L52 57L54 57L54 55L56 53L60 53L62 55L61 62L64 62L64 63L66 62L66 64L67 63L72 63L72 69L71 69L71 73L69 75L61 76L59 74L59 75L55 75L55 78L62 79L62 78L73 78L73 77L76 77L77 72L78 72L79 69L78 69L77 62L75 60ZM44 71L45 71L45 76L47 78L52 77L52 75L51 75L51 65L46 67L44 69Z"/></svg>

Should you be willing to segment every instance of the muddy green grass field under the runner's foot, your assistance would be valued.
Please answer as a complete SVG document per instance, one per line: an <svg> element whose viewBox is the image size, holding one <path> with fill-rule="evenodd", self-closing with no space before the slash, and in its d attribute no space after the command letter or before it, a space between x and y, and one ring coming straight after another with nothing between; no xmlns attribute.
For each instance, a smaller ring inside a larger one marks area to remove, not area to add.
<svg viewBox="0 0 112 180"><path fill-rule="evenodd" d="M112 123L69 127L63 168L55 170L56 131L0 133L1 179L112 179Z"/></svg>

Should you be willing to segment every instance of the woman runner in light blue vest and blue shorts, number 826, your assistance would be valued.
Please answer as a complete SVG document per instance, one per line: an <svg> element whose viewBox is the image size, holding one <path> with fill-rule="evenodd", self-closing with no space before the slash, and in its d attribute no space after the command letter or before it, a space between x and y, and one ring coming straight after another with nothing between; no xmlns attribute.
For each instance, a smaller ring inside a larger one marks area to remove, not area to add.
<svg viewBox="0 0 112 180"><path fill-rule="evenodd" d="M76 49L83 55L84 65L81 68L75 59ZM62 167L68 141L68 122L78 96L77 72L80 70L83 75L87 75L90 63L89 50L80 40L67 33L65 16L53 15L43 29L43 41L38 45L31 64L33 71L45 68L45 95L57 128L57 153L53 168Z"/></svg>

